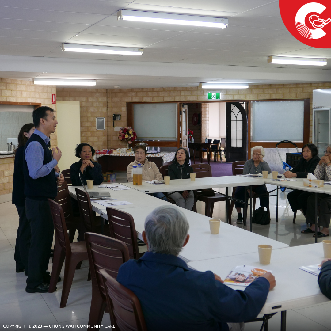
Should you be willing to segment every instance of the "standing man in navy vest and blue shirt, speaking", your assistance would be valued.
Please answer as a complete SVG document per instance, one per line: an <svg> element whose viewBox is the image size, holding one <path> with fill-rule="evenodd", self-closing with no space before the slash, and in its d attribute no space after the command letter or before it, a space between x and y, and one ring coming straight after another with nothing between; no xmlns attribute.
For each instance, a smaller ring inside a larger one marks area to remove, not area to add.
<svg viewBox="0 0 331 331"><path fill-rule="evenodd" d="M54 110L39 107L32 112L35 131L24 148L24 194L26 217L30 223L31 240L25 291L48 292L50 274L47 271L53 241L53 221L47 199L57 196L57 186L64 177L54 167L61 158L57 147L50 147L49 135L58 124Z"/></svg>

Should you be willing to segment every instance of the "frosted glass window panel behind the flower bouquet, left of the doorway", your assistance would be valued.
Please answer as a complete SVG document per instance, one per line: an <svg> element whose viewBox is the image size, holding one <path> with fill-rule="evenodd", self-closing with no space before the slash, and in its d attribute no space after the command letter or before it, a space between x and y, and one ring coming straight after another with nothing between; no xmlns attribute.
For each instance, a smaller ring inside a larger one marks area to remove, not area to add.
<svg viewBox="0 0 331 331"><path fill-rule="evenodd" d="M177 140L177 103L133 105L138 140Z"/></svg>

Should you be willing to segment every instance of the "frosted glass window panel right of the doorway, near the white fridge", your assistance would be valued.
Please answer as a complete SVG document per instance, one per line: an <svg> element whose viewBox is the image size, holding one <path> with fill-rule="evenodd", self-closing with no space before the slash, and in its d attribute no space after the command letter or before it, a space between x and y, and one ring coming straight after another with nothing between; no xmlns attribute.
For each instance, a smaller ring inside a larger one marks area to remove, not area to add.
<svg viewBox="0 0 331 331"><path fill-rule="evenodd" d="M252 141L303 141L304 101L253 101Z"/></svg>

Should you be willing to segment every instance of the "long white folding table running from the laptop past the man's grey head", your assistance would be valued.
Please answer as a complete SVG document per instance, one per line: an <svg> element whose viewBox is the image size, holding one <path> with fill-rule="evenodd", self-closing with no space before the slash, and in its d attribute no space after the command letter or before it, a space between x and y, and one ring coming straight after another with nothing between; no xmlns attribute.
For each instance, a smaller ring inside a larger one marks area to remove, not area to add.
<svg viewBox="0 0 331 331"><path fill-rule="evenodd" d="M69 190L71 192L71 196L76 198L75 193L73 193L74 187L70 187ZM93 190L105 189L101 189L96 186ZM128 194L130 191L131 194L129 197ZM139 239L142 239L142 232L145 229L145 219L147 215L156 207L169 205L174 208L178 208L180 212L184 213L190 224L190 240L180 253L180 257L185 261L214 259L224 256L257 252L257 246L260 244L272 245L275 249L288 247L287 244L282 242L249 232L224 222L220 222L219 234L212 235L209 227L210 217L171 205L162 199L154 198L135 190L112 191L111 195L112 197L118 198L118 200L119 196L124 196L125 199L120 199L128 202L134 202L132 205L110 207L123 210L124 212L132 215ZM134 199L139 200L135 201ZM92 208L103 218L108 219L106 206L92 203Z"/></svg>

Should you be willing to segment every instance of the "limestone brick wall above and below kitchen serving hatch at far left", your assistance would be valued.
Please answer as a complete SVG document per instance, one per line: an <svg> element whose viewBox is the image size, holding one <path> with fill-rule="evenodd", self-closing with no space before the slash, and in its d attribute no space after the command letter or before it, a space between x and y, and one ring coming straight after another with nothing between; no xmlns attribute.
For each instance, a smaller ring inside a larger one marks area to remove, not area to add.
<svg viewBox="0 0 331 331"><path fill-rule="evenodd" d="M0 78L0 101L41 103L56 110L52 105L55 86L33 85L32 81ZM56 132L51 134L51 146L57 145ZM0 159L0 195L12 192L14 158ZM4 202L4 201L1 201Z"/></svg>

